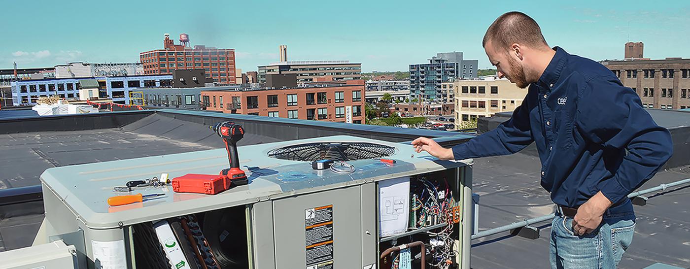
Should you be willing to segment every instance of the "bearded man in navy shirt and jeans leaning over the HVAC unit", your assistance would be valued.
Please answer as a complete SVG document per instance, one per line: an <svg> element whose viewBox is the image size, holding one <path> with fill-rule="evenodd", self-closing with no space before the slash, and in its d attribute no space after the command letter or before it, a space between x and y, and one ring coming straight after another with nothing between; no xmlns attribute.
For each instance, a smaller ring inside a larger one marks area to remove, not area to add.
<svg viewBox="0 0 690 269"><path fill-rule="evenodd" d="M632 241L627 195L671 157L668 130L604 66L550 48L538 24L508 12L482 43L499 77L529 86L522 105L495 130L453 148L420 137L415 150L439 159L509 155L535 143L541 185L551 192L552 268L615 268Z"/></svg>

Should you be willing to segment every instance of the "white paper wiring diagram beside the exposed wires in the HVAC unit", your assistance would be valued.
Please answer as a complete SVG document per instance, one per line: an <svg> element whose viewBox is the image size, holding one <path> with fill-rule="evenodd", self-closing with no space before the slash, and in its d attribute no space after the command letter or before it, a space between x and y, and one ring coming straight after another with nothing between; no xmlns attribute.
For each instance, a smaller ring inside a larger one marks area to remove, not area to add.
<svg viewBox="0 0 690 269"><path fill-rule="evenodd" d="M406 232L410 215L410 178L380 181L379 197L381 236Z"/></svg>

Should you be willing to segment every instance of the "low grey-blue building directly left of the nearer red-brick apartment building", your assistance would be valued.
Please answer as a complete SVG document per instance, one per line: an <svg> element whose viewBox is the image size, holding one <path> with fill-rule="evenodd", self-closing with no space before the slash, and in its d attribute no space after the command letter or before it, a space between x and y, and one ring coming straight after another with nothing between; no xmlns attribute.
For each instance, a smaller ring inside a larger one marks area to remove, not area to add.
<svg viewBox="0 0 690 269"><path fill-rule="evenodd" d="M134 103L147 108L201 110L201 91L239 90L242 87L241 84L234 84L231 86L197 88L144 88L138 90L142 94L142 101L135 101Z"/></svg>

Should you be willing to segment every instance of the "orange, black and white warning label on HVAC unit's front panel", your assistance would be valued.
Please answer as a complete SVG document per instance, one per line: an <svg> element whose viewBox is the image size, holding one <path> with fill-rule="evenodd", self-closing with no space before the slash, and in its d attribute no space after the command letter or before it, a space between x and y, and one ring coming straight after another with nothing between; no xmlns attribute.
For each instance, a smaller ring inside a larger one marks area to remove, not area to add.
<svg viewBox="0 0 690 269"><path fill-rule="evenodd" d="M306 269L333 268L333 205L304 210Z"/></svg>

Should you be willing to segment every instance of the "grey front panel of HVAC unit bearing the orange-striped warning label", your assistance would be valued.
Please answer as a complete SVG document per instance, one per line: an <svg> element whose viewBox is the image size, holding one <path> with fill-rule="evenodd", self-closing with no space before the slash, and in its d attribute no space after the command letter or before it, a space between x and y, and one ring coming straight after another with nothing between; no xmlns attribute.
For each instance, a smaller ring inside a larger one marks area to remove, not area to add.
<svg viewBox="0 0 690 269"><path fill-rule="evenodd" d="M353 186L273 201L273 224L275 235L279 235L275 237L275 268L308 268L308 266L328 263L328 261L333 261L333 268L362 268L360 258L362 237L360 235L364 234L364 230L362 230L361 222L360 188L360 186ZM373 193L368 195L373 195ZM324 239L310 238L311 235L308 235L305 229L308 225L306 221L308 217L311 217L308 215L315 213L308 210L328 206L332 207L332 218L326 218L322 222L325 225L319 227L322 228L321 231L313 232L318 234L314 236L322 236ZM371 219L371 216L367 217ZM328 222L332 224L326 224ZM330 225L332 225L332 230L328 227ZM333 234L324 235L328 232L333 232ZM313 241L313 243L306 241ZM318 247L308 248L308 245L317 245L319 241L324 243L323 250L319 250ZM331 241L332 243L329 243ZM330 250L331 247L332 250ZM319 251L322 254L316 253ZM329 256L329 254L330 257L323 257L319 262L307 262L308 255Z"/></svg>

